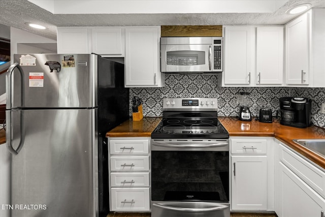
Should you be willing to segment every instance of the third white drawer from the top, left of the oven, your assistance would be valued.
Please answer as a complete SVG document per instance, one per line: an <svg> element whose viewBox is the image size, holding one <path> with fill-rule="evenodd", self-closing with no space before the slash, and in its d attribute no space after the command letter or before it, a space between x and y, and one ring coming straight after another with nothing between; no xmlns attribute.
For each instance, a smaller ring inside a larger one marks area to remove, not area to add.
<svg viewBox="0 0 325 217"><path fill-rule="evenodd" d="M149 172L111 173L111 187L149 187Z"/></svg>

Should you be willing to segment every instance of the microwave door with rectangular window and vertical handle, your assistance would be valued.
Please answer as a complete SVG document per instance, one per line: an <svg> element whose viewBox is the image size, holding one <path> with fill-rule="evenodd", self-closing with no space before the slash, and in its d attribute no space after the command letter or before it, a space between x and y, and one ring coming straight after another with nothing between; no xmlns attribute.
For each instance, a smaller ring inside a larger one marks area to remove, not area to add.
<svg viewBox="0 0 325 217"><path fill-rule="evenodd" d="M212 72L211 45L161 45L161 72Z"/></svg>

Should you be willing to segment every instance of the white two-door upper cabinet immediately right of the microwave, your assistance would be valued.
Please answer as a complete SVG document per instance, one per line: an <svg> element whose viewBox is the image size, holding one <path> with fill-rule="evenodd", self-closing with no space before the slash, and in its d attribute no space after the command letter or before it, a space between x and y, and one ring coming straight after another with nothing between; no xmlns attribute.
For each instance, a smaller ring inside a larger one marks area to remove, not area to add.
<svg viewBox="0 0 325 217"><path fill-rule="evenodd" d="M223 86L283 84L283 26L225 26Z"/></svg>

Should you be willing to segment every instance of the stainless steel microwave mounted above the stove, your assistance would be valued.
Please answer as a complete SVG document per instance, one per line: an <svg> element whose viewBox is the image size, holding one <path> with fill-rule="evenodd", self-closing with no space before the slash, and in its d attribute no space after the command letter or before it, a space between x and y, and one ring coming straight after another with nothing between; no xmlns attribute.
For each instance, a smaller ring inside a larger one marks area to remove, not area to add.
<svg viewBox="0 0 325 217"><path fill-rule="evenodd" d="M161 37L160 67L165 73L222 72L222 37Z"/></svg>

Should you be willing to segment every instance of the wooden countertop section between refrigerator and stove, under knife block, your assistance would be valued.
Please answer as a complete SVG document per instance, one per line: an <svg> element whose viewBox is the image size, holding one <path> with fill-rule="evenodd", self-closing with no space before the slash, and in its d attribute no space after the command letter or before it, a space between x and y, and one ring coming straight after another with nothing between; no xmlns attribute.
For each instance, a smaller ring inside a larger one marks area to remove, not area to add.
<svg viewBox="0 0 325 217"><path fill-rule="evenodd" d="M161 117L144 117L142 120L133 121L131 117L106 133L106 137L151 137L151 132L160 120Z"/></svg>

